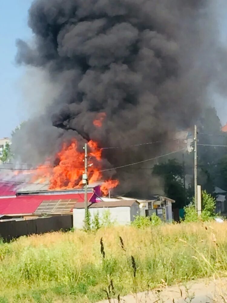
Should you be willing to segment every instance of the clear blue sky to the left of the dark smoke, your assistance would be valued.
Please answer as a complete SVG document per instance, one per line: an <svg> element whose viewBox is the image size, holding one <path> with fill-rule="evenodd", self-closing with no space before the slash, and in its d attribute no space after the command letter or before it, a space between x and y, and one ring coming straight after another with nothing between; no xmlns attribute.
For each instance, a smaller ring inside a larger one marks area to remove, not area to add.
<svg viewBox="0 0 227 303"><path fill-rule="evenodd" d="M11 131L25 118L20 107L22 95L17 87L24 70L15 65L15 41L17 38L31 37L27 15L32 0L0 1L0 138L3 138L10 136Z"/></svg>

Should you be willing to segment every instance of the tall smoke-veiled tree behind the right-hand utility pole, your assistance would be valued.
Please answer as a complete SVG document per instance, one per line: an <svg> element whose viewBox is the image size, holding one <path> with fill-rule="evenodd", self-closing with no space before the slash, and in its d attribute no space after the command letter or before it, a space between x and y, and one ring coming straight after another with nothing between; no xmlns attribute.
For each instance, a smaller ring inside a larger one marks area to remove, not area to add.
<svg viewBox="0 0 227 303"><path fill-rule="evenodd" d="M213 194L214 187L222 187L227 180L227 158L226 165L223 159L226 148L210 145L227 145L227 134L221 131L221 122L215 108L206 108L198 123L198 184L203 190ZM222 165L220 161L222 161ZM194 192L194 152L185 156L186 174L192 176L191 189ZM222 168L226 168L226 179L222 177ZM224 186L225 188L225 186ZM194 195L194 194L193 194Z"/></svg>

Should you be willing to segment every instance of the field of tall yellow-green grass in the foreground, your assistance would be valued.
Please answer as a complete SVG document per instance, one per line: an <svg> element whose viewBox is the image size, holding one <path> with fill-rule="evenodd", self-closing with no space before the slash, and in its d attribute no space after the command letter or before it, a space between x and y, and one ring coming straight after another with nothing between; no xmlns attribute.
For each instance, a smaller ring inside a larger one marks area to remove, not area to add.
<svg viewBox="0 0 227 303"><path fill-rule="evenodd" d="M223 276L226 231L227 223L192 223L21 237L0 244L0 302L95 302L107 287L117 297Z"/></svg>

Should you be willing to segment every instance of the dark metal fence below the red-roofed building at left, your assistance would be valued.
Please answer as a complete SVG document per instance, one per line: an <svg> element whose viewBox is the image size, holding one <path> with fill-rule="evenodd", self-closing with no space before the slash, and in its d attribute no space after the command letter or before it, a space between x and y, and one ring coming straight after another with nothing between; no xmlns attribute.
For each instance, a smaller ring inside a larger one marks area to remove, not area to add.
<svg viewBox="0 0 227 303"><path fill-rule="evenodd" d="M0 222L0 238L6 241L32 234L68 230L73 227L73 216L55 216L29 220L8 220Z"/></svg>

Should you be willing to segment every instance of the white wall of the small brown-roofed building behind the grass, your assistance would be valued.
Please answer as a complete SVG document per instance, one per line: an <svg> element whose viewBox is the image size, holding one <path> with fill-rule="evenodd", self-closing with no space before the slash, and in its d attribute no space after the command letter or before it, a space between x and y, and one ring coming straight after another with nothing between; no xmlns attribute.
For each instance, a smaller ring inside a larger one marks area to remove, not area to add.
<svg viewBox="0 0 227 303"><path fill-rule="evenodd" d="M133 205L136 206L137 205ZM131 207L132 213L136 213L136 210ZM139 209L139 206L138 206ZM89 212L91 215L91 220L94 218L94 214L99 212L100 218L105 211L110 211L110 220L116 222L119 225L130 224L131 222L131 211L129 206L122 207L110 207L110 208L89 208ZM84 216L85 210L84 208L74 208L73 209L73 227L74 228L83 228L84 227ZM134 219L134 218L133 218Z"/></svg>

